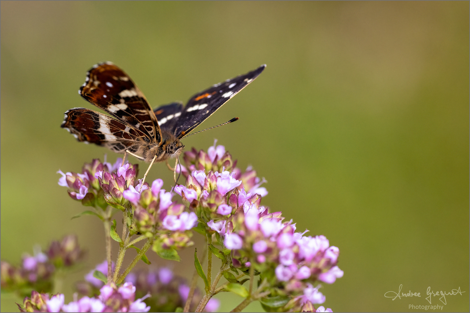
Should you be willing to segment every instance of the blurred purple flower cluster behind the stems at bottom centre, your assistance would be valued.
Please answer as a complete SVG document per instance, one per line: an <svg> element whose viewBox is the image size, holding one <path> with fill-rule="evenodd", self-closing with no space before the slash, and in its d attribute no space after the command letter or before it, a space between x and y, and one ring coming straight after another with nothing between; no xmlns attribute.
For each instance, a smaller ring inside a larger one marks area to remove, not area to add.
<svg viewBox="0 0 470 313"><path fill-rule="evenodd" d="M175 275L167 267L157 270L134 270L125 278L136 287L136 296L141 297L148 293L152 296L145 300L151 312L175 312L184 307L188 299L189 286L183 277ZM194 312L202 298L202 293L196 288L189 311ZM216 312L219 300L211 299L205 307L205 312Z"/></svg>

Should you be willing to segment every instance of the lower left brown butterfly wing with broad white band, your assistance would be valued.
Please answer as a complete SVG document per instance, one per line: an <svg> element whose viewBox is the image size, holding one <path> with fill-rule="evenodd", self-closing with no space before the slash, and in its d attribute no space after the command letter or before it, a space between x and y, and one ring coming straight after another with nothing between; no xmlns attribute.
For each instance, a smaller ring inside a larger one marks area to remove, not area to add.
<svg viewBox="0 0 470 313"><path fill-rule="evenodd" d="M66 111L61 127L78 141L101 145L116 153L124 153L126 149L136 152L140 145L150 142L140 130L84 107Z"/></svg>

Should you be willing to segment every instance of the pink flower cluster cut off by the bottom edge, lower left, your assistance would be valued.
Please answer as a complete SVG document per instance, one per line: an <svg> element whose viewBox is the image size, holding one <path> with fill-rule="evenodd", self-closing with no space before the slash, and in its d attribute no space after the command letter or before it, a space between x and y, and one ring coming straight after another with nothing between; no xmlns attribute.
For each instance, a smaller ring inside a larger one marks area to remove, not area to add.
<svg viewBox="0 0 470 313"><path fill-rule="evenodd" d="M150 307L143 302L149 296L136 300L132 282L125 282L120 287L114 283L104 285L97 298L85 296L69 304L64 303L63 294L49 297L32 291L31 298L26 297L23 305L17 305L20 312L149 312Z"/></svg>

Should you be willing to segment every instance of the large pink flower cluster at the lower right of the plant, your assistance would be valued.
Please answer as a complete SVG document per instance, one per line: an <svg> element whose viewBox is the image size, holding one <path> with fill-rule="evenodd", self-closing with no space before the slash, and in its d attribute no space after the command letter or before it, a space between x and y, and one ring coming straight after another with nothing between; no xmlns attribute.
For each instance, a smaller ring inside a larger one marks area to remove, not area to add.
<svg viewBox="0 0 470 313"><path fill-rule="evenodd" d="M244 193L233 198L232 202L239 205L236 214L228 221L208 223L232 250L233 266L244 272L253 267L261 273L271 296L290 299L284 310L308 312L314 304L325 302L318 291L320 286L313 287L313 283L333 283L343 276L337 267L339 249L330 246L324 236L307 237L305 232L296 232L292 221L283 222L281 212L268 213L267 208L259 206L260 199L244 200Z"/></svg>

